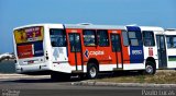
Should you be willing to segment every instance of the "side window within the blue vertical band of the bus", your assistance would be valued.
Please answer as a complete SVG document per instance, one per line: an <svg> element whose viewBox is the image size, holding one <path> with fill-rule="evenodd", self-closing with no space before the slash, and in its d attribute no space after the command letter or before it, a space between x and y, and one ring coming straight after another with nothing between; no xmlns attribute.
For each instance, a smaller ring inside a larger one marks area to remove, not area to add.
<svg viewBox="0 0 176 96"><path fill-rule="evenodd" d="M142 46L141 32L129 32L129 40L131 46Z"/></svg>

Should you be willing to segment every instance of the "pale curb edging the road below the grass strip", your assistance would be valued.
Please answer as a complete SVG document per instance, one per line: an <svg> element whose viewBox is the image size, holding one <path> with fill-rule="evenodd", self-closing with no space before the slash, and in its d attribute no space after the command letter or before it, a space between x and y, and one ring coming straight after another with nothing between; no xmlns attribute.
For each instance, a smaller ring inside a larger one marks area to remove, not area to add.
<svg viewBox="0 0 176 96"><path fill-rule="evenodd" d="M90 86L119 86L119 87L167 87L176 88L176 84L148 84L148 83L112 83L112 82L73 82L72 85L90 85Z"/></svg>

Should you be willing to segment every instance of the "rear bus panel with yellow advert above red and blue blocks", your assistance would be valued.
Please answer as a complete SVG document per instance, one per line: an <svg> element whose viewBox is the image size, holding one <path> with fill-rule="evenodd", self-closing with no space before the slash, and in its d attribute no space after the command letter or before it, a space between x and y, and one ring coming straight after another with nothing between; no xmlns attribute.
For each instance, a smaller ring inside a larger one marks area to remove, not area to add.
<svg viewBox="0 0 176 96"><path fill-rule="evenodd" d="M32 26L14 31L16 53L21 58L43 56L43 27Z"/></svg>

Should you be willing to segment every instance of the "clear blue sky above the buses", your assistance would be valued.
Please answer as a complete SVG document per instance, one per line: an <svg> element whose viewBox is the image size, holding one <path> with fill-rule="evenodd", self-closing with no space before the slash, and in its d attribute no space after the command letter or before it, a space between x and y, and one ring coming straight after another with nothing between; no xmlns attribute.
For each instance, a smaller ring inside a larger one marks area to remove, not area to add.
<svg viewBox="0 0 176 96"><path fill-rule="evenodd" d="M0 53L13 52L13 28L92 23L176 28L176 0L0 0Z"/></svg>

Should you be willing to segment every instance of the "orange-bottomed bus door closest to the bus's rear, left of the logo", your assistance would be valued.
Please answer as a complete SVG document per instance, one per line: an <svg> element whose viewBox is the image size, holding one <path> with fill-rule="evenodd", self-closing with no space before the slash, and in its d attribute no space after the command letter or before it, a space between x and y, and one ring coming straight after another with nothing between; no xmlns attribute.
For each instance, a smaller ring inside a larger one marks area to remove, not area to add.
<svg viewBox="0 0 176 96"><path fill-rule="evenodd" d="M75 71L80 71L84 69L82 63L82 50L81 50L81 40L79 33L68 33L69 38L69 55L72 65L75 65Z"/></svg>

